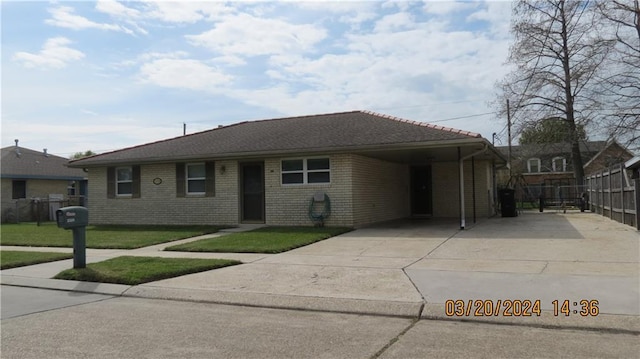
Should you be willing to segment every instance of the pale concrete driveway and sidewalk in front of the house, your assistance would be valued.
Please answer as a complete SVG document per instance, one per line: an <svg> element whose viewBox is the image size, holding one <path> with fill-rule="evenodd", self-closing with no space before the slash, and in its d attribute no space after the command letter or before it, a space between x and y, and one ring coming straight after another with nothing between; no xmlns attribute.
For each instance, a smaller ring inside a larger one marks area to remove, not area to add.
<svg viewBox="0 0 640 359"><path fill-rule="evenodd" d="M146 298L640 332L639 244L633 228L595 214L531 212L465 231L455 221L385 223L277 255L162 252L166 245L88 250L88 262L146 255L245 263L134 287L47 279L70 268L70 260L5 270L1 280ZM472 308L448 316L445 303L458 299L539 300L543 313L475 316ZM598 300L597 316L578 314L573 303L583 299ZM569 317L554 313L554 300L569 301Z"/></svg>

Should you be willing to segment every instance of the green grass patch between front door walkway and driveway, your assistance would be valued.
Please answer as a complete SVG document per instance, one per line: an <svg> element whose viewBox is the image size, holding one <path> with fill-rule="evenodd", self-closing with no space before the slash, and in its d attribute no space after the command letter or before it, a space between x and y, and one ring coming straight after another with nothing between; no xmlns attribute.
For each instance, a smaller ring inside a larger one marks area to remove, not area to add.
<svg viewBox="0 0 640 359"><path fill-rule="evenodd" d="M344 227L264 227L166 248L167 251L281 253L349 232Z"/></svg>

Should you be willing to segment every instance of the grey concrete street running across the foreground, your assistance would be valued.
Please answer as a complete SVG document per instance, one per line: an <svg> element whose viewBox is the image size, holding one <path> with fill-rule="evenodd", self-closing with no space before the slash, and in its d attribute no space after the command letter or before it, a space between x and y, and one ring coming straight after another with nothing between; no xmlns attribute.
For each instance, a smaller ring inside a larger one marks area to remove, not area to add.
<svg viewBox="0 0 640 359"><path fill-rule="evenodd" d="M56 302L62 294L90 298L3 319L2 358L636 358L640 351L632 333L10 288Z"/></svg>

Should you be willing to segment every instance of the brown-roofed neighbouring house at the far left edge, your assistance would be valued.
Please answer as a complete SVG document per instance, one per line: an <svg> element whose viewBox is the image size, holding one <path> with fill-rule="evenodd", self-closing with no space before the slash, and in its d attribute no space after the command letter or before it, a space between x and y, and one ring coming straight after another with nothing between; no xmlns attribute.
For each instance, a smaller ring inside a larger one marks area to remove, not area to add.
<svg viewBox="0 0 640 359"><path fill-rule="evenodd" d="M15 146L0 152L2 222L35 221L38 214L41 220L53 219L52 210L70 200L80 204L79 198L86 195L87 174L67 167L68 159L46 149L39 152L19 147L17 140Z"/></svg>

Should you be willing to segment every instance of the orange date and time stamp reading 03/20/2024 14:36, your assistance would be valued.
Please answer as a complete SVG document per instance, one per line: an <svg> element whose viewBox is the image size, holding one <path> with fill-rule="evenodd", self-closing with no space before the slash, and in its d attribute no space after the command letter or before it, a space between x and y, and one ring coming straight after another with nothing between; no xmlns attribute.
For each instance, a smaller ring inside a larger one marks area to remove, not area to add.
<svg viewBox="0 0 640 359"><path fill-rule="evenodd" d="M596 317L600 314L596 299L553 300L553 315ZM447 317L531 317L542 314L540 299L448 299L444 304Z"/></svg>

